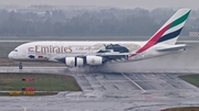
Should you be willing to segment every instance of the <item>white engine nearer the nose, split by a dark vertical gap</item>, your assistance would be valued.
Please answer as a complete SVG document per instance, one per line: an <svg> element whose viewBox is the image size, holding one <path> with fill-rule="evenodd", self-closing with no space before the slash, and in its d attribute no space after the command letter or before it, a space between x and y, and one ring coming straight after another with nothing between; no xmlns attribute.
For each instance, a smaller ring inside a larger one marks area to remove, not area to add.
<svg viewBox="0 0 199 111"><path fill-rule="evenodd" d="M83 66L84 59L80 57L65 57L65 65L70 67Z"/></svg>

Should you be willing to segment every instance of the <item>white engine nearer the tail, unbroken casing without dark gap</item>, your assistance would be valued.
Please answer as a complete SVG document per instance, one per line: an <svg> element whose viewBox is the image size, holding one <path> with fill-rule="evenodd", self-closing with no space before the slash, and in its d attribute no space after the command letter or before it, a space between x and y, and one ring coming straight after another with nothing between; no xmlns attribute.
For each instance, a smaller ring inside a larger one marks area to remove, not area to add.
<svg viewBox="0 0 199 111"><path fill-rule="evenodd" d="M102 65L103 64L103 57L86 56L86 64L88 64L88 65Z"/></svg>

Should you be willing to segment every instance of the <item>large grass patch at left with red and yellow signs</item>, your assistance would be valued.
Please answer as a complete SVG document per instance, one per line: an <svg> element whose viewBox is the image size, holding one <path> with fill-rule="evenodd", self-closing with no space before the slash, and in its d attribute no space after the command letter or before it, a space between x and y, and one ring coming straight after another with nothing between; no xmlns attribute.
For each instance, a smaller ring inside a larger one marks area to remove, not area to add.
<svg viewBox="0 0 199 111"><path fill-rule="evenodd" d="M22 81L22 78L33 78L34 81ZM15 91L21 88L34 87L36 91L80 91L72 76L46 74L0 73L0 90Z"/></svg>

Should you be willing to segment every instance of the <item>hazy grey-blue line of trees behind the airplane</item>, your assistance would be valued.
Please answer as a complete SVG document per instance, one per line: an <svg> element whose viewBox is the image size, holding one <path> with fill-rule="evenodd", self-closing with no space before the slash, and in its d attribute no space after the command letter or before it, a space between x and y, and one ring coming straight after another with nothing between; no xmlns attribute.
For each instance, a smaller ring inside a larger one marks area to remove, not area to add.
<svg viewBox="0 0 199 111"><path fill-rule="evenodd" d="M153 35L174 13L170 9L17 12L0 10L1 36L146 36ZM198 15L193 12L192 15ZM198 31L199 19L191 16L182 35Z"/></svg>

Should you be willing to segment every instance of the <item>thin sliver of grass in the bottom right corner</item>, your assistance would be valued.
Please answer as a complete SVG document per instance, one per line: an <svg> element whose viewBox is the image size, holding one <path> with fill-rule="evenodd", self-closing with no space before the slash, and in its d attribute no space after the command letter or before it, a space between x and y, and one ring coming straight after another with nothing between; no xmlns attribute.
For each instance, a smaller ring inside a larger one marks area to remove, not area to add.
<svg viewBox="0 0 199 111"><path fill-rule="evenodd" d="M163 111L199 111L199 107L170 108Z"/></svg>

